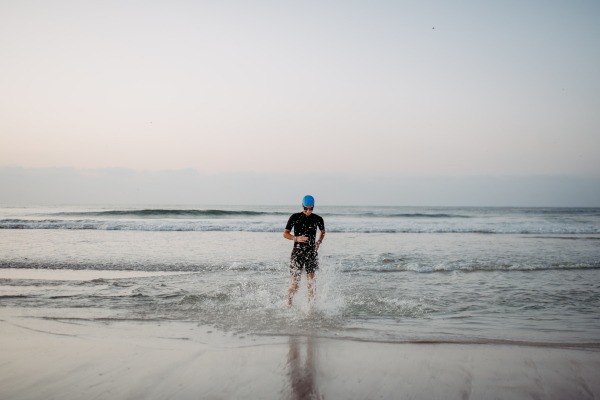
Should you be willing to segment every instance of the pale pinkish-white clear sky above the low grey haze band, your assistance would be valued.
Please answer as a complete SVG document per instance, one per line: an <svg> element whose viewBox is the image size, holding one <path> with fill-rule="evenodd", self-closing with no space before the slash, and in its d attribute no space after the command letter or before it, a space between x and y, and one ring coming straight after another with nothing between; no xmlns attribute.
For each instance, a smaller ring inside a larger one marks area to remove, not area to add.
<svg viewBox="0 0 600 400"><path fill-rule="evenodd" d="M3 1L0 165L600 175L598 1Z"/></svg>

